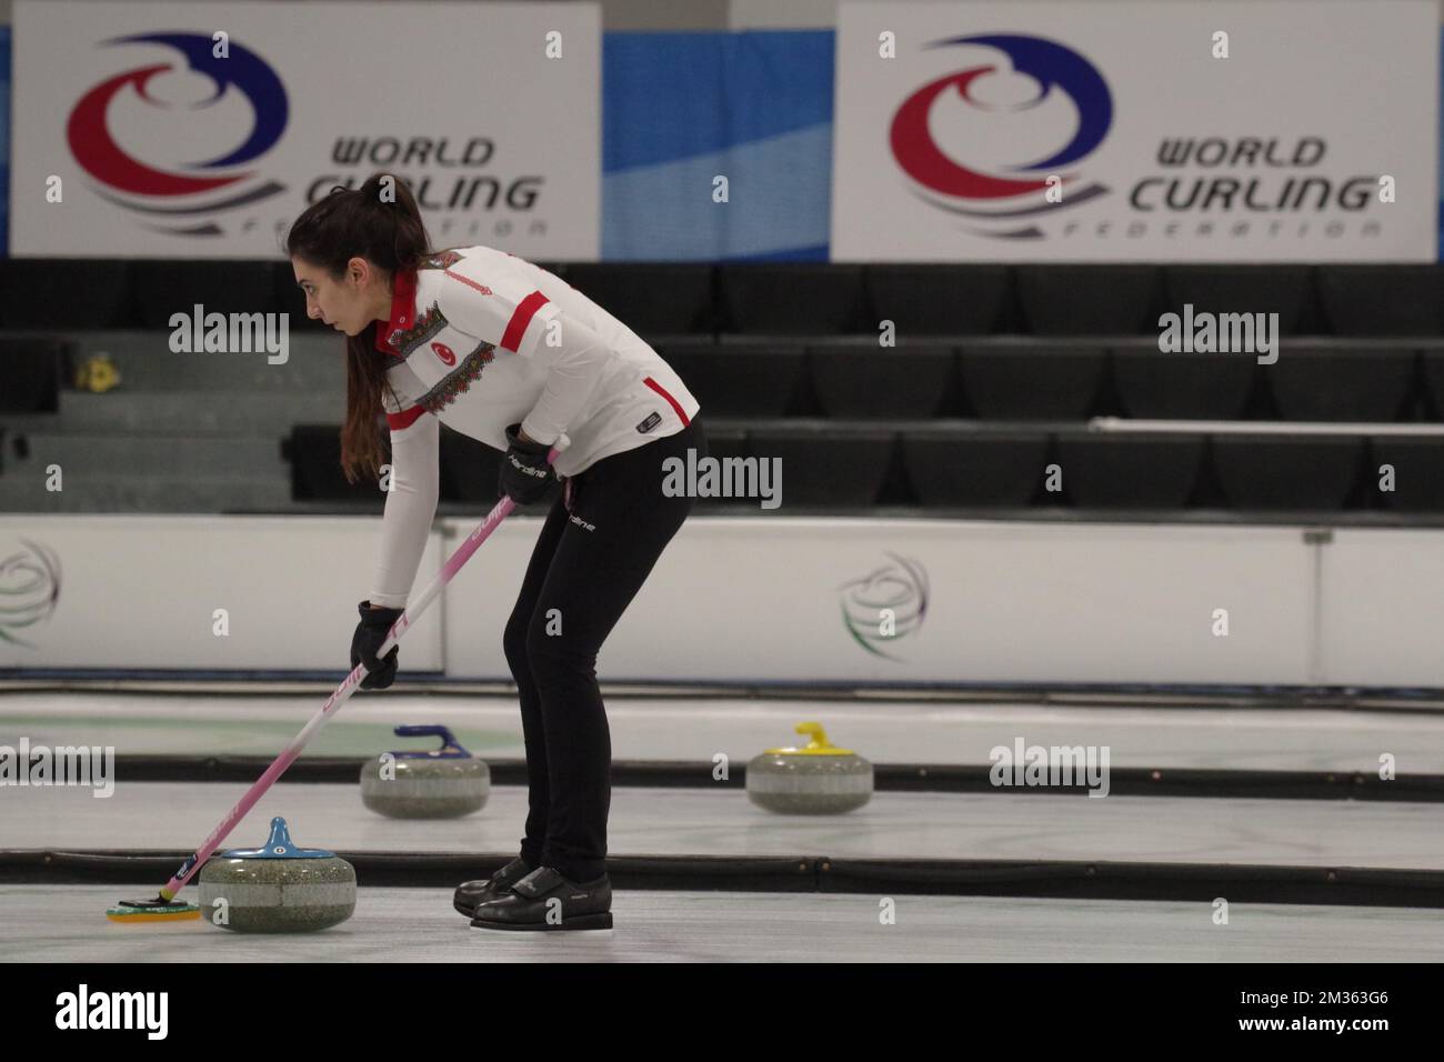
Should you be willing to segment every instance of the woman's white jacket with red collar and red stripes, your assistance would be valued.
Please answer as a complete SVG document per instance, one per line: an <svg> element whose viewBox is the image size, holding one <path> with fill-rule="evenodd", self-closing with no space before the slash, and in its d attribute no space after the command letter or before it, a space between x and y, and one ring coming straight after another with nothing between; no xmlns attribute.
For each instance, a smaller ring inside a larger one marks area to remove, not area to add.
<svg viewBox="0 0 1444 1062"><path fill-rule="evenodd" d="M393 292L375 342L388 366L391 490L371 604L404 607L416 579L440 490L440 423L504 451L520 422L537 442L563 442L554 467L578 475L680 432L700 407L641 337L505 251L439 251L397 273Z"/></svg>

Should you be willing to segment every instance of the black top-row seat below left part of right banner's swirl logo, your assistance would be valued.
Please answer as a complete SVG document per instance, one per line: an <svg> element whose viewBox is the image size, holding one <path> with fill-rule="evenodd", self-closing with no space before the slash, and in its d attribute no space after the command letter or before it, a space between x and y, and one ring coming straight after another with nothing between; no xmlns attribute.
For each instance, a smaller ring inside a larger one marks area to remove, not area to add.
<svg viewBox="0 0 1444 1062"><path fill-rule="evenodd" d="M875 264L862 276L874 328L891 321L898 344L920 335L986 335L1008 299L1006 266Z"/></svg>

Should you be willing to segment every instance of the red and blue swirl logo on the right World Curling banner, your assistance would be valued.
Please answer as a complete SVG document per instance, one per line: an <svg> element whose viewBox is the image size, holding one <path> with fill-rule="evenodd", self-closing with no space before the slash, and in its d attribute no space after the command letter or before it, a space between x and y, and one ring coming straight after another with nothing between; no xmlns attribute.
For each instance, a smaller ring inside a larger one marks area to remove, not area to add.
<svg viewBox="0 0 1444 1062"><path fill-rule="evenodd" d="M913 91L892 116L892 157L915 194L941 210L1008 220L1077 205L1108 189L1070 188L1064 201L1041 192L1057 175L1077 185L1071 168L1108 134L1113 100L1103 75L1053 40L985 35L934 40L928 48L991 48L995 62L954 71ZM967 160L967 165L963 163ZM1041 236L1032 225L999 237Z"/></svg>

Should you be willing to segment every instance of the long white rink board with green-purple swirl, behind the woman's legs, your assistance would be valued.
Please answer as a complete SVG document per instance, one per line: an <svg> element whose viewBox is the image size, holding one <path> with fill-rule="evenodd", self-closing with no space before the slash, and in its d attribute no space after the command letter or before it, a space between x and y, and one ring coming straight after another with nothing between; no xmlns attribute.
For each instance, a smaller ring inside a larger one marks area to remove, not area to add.
<svg viewBox="0 0 1444 1062"><path fill-rule="evenodd" d="M495 545L485 572L456 579L477 607L449 603L452 675L497 673L530 536ZM920 565L928 584L923 621L885 646L894 659L848 633L840 591L895 568L890 555ZM692 519L612 631L598 672L617 681L1304 683L1311 565L1297 529ZM1212 633L1214 608L1229 610L1227 637Z"/></svg>

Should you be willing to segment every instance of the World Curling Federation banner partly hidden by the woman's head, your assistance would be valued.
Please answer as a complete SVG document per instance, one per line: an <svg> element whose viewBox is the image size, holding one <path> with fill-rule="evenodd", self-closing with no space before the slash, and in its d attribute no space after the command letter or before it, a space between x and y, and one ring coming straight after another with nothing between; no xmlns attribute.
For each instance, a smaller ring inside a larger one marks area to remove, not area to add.
<svg viewBox="0 0 1444 1062"><path fill-rule="evenodd" d="M596 4L19 0L13 100L16 256L274 257L378 170L438 246L598 256Z"/></svg>

